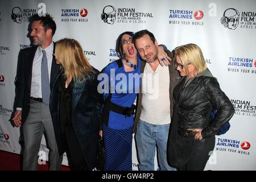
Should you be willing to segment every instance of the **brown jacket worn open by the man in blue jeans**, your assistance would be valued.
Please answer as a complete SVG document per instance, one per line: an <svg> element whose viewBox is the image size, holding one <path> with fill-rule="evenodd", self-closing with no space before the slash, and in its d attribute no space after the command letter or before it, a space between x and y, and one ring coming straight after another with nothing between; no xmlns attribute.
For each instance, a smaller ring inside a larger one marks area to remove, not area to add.
<svg viewBox="0 0 256 182"><path fill-rule="evenodd" d="M170 51L166 51L167 55L171 57L172 59L172 53ZM146 66L146 61L141 61L141 73L144 73L144 68ZM169 87L169 93L170 93L170 112L171 112L171 117L172 117L172 111L174 108L174 102L173 102L173 97L172 97L172 92L177 85L177 83L180 81L180 75L179 72L176 71L174 64L170 64L168 66L169 68L169 75L170 75L170 87ZM141 110L142 110L142 86L139 88L139 93L137 96L137 110L135 113L135 119L134 119L134 127L133 127L133 133L136 133L137 131L137 124L139 122L139 118L141 117ZM171 119L171 118L170 118Z"/></svg>

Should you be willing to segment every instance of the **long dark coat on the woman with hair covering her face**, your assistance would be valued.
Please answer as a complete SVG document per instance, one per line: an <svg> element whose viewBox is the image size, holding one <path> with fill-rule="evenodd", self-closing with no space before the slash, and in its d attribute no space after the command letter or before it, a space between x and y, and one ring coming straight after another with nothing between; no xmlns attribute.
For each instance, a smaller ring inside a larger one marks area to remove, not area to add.
<svg viewBox="0 0 256 182"><path fill-rule="evenodd" d="M96 73L90 73L82 83L75 82L72 91L72 126L77 142L82 151L84 160L92 170L96 167L97 139L100 132L100 118L102 106L102 94L97 92L97 69ZM60 129L60 92L59 83L61 73L57 75L53 82L50 96L50 110L55 131L57 146L60 155L67 151L65 135L61 134Z"/></svg>

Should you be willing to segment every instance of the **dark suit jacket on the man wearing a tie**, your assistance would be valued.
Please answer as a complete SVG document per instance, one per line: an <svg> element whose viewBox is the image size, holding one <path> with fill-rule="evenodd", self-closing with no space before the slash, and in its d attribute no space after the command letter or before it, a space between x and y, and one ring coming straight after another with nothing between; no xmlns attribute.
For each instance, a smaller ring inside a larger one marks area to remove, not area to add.
<svg viewBox="0 0 256 182"><path fill-rule="evenodd" d="M22 107L22 123L27 119L27 115L30 111L30 91L31 91L31 79L32 79L32 65L35 57L35 52L38 46L25 48L19 51L18 67L16 75L16 97L15 108ZM55 51L55 44L53 52ZM52 88L53 81L59 72L59 65L55 63L55 59L52 58L51 78L50 85Z"/></svg>

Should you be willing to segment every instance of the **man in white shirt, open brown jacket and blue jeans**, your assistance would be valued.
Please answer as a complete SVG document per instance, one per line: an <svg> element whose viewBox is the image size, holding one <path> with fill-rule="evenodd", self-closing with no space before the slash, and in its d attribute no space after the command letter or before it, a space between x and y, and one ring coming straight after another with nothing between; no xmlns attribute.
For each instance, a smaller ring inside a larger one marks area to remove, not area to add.
<svg viewBox="0 0 256 182"><path fill-rule="evenodd" d="M172 91L180 80L171 63L161 67L158 61L158 42L154 35L142 30L135 33L135 47L144 60L141 63L142 88L137 97L134 133L139 170L154 171L155 149L158 150L159 169L173 171L167 163L167 139L171 123ZM170 51L165 50L172 58ZM166 57L162 58L164 61Z"/></svg>

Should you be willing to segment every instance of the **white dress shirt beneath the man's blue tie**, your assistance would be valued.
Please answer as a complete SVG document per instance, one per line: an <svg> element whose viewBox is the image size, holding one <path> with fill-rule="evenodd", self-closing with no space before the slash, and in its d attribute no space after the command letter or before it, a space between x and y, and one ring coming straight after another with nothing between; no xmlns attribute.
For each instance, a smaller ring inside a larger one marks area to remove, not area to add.
<svg viewBox="0 0 256 182"><path fill-rule="evenodd" d="M41 84L41 63L43 58L42 48L39 46L36 49L33 67L32 67L32 80L31 80L31 97L42 98L42 84ZM46 51L49 81L51 81L51 66L52 66L52 54L53 54L53 42L44 49Z"/></svg>

